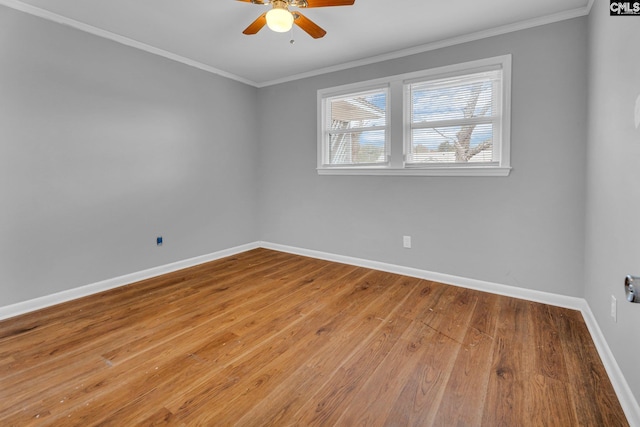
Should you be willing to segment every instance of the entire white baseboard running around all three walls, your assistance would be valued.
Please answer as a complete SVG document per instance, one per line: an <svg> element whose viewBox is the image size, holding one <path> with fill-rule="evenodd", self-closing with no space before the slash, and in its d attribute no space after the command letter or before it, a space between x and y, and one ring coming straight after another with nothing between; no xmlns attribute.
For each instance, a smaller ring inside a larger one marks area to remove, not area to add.
<svg viewBox="0 0 640 427"><path fill-rule="evenodd" d="M151 277L160 276L173 271L181 270L183 268L193 267L205 262L214 261L227 256L235 255L241 252L245 252L256 248L272 249L280 252L287 252L296 255L308 256L311 258L323 259L327 261L340 262L343 264L356 265L359 267L371 268L374 270L386 271L389 273L402 274L405 276L417 277L426 280L432 280L435 282L460 286L469 289L475 289L483 292L490 292L493 294L504 295L513 298L524 299L528 301L535 301L549 305L555 305L558 307L565 307L582 312L582 316L585 320L587 328L591 333L593 342L598 350L602 363L609 375L609 379L613 384L613 388L618 395L618 400L622 405L627 420L632 427L640 427L640 405L636 401L629 384L627 383L622 370L618 366L618 363L607 344L607 341L598 326L591 308L586 300L583 298L569 297L565 295L557 295L549 292L541 292L532 289L523 289L515 286L502 285L492 282L486 282L482 280L469 279L466 277L453 276L450 274L436 273L432 271L420 270L412 267L404 267L395 264L387 264L384 262L371 261L361 258L354 258L344 255L336 255L328 252L321 252L312 249L302 249L293 246L280 245L270 242L253 242L241 246L236 246L230 249L221 250L208 255L202 255L183 261L177 261L174 263L166 264L159 267L150 268L140 272L127 274L124 276L116 277L109 280L93 283L86 286L81 286L75 289L69 289L67 291L58 292L52 295L46 295L43 297L35 298L32 300L12 304L5 307L0 307L0 320L10 317L25 314L31 311L39 310L42 308L50 307L62 302L71 301L73 299L81 298L84 296L96 294L98 292L106 291L109 289L117 288L120 286L129 285L131 283L138 282L140 280L148 279Z"/></svg>

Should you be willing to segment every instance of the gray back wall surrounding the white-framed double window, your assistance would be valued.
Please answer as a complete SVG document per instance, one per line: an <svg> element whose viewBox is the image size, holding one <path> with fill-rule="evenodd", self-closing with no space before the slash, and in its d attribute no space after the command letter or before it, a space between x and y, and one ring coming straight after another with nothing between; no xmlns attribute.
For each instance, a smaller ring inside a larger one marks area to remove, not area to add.
<svg viewBox="0 0 640 427"><path fill-rule="evenodd" d="M587 37L579 18L261 89L262 240L581 297ZM317 175L318 89L508 53L509 177Z"/></svg>

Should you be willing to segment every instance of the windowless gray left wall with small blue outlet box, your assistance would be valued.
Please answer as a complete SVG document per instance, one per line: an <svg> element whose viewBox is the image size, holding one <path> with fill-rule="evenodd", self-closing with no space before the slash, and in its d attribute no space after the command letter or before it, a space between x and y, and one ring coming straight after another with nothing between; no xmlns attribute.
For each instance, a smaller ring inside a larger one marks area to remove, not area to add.
<svg viewBox="0 0 640 427"><path fill-rule="evenodd" d="M256 241L256 100L0 6L0 306Z"/></svg>

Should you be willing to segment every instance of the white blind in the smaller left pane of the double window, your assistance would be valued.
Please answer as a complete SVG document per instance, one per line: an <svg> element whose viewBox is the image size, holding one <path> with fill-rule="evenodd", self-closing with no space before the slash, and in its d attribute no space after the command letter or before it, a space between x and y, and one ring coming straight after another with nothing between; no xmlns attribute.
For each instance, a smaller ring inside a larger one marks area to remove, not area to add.
<svg viewBox="0 0 640 427"><path fill-rule="evenodd" d="M387 89L325 100L323 163L331 166L387 163Z"/></svg>

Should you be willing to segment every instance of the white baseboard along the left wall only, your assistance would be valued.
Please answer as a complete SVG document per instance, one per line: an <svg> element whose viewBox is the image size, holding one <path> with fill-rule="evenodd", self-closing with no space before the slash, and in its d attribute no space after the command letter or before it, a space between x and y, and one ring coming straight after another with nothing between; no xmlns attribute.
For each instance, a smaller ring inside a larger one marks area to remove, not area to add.
<svg viewBox="0 0 640 427"><path fill-rule="evenodd" d="M147 270L125 274L124 276L115 277L113 279L102 280L90 285L80 286L78 288L73 288L66 291L57 292L55 294L45 295L39 298L34 298L16 304L0 307L0 320L19 316L21 314L40 310L42 308L47 308L52 305L60 304L74 299L97 294L98 292L107 291L109 289L118 288L120 286L130 285L132 283L149 279L151 277L156 277L163 274L171 273L173 271L182 270L183 268L193 267L195 265L203 264L209 261L215 261L220 258L258 248L259 246L260 245L258 242L247 243L245 245L236 246L230 249L224 249L211 254L172 262L170 264L149 268Z"/></svg>

